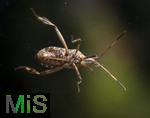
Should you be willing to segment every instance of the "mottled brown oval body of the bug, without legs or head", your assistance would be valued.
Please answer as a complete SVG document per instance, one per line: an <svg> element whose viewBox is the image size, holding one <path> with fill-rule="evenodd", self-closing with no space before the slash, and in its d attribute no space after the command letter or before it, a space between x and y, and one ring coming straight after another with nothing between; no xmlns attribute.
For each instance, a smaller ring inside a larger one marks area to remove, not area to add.
<svg viewBox="0 0 150 118"><path fill-rule="evenodd" d="M41 64L45 66L60 66L63 64L76 63L79 64L85 55L78 51L75 55L76 49L69 49L68 55L66 50L60 47L47 47L41 49L37 53L37 58Z"/></svg>

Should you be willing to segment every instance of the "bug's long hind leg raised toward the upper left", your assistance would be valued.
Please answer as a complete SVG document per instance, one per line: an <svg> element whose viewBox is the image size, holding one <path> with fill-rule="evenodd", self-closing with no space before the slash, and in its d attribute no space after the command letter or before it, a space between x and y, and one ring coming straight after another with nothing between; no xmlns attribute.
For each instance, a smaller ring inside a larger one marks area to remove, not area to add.
<svg viewBox="0 0 150 118"><path fill-rule="evenodd" d="M66 44L66 41L64 39L64 37L62 36L61 32L59 31L59 29L57 28L57 26L55 24L53 24L51 21L49 21L46 17L41 17L39 16L33 8L31 8L31 11L33 12L34 16L39 20L41 21L42 23L46 24L46 25L49 25L49 26L52 26L54 27L56 33L57 33L57 36L59 38L59 40L61 41L61 43L63 44L64 48L66 49L66 54L68 54L68 46Z"/></svg>

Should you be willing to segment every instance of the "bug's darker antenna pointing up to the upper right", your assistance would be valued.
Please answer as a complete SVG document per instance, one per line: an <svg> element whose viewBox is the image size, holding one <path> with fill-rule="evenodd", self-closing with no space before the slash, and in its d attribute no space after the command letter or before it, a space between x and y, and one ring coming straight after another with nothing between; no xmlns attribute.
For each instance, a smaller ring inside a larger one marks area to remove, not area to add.
<svg viewBox="0 0 150 118"><path fill-rule="evenodd" d="M102 58L118 42L118 40L121 39L126 34L126 32L127 32L126 30L121 32L116 37L116 39L102 51L102 53L100 54L99 58Z"/></svg>

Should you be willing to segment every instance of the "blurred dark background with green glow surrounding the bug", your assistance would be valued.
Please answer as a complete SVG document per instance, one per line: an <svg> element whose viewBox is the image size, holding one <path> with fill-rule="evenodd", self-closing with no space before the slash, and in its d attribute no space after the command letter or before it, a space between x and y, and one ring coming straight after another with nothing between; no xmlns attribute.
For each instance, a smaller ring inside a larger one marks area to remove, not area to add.
<svg viewBox="0 0 150 118"><path fill-rule="evenodd" d="M73 70L44 77L14 71L20 65L43 70L35 59L38 50L62 46L54 30L37 21L30 8L57 24L70 48L75 48L72 36L82 38L81 51L87 55L99 54L117 34L127 30L100 60L127 91L99 69L81 69L80 94ZM0 91L50 93L52 118L148 118L149 26L148 0L0 0Z"/></svg>

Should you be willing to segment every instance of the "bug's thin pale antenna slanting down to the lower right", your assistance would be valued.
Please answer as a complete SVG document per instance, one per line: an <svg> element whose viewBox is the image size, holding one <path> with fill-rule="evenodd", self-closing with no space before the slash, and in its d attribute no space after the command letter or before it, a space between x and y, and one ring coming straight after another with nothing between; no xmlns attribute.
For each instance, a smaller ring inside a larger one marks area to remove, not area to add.
<svg viewBox="0 0 150 118"><path fill-rule="evenodd" d="M112 79L114 79L123 88L124 91L126 91L126 87L107 68L105 68L102 64L100 64L97 61L96 67L101 67L108 75L111 76Z"/></svg>

